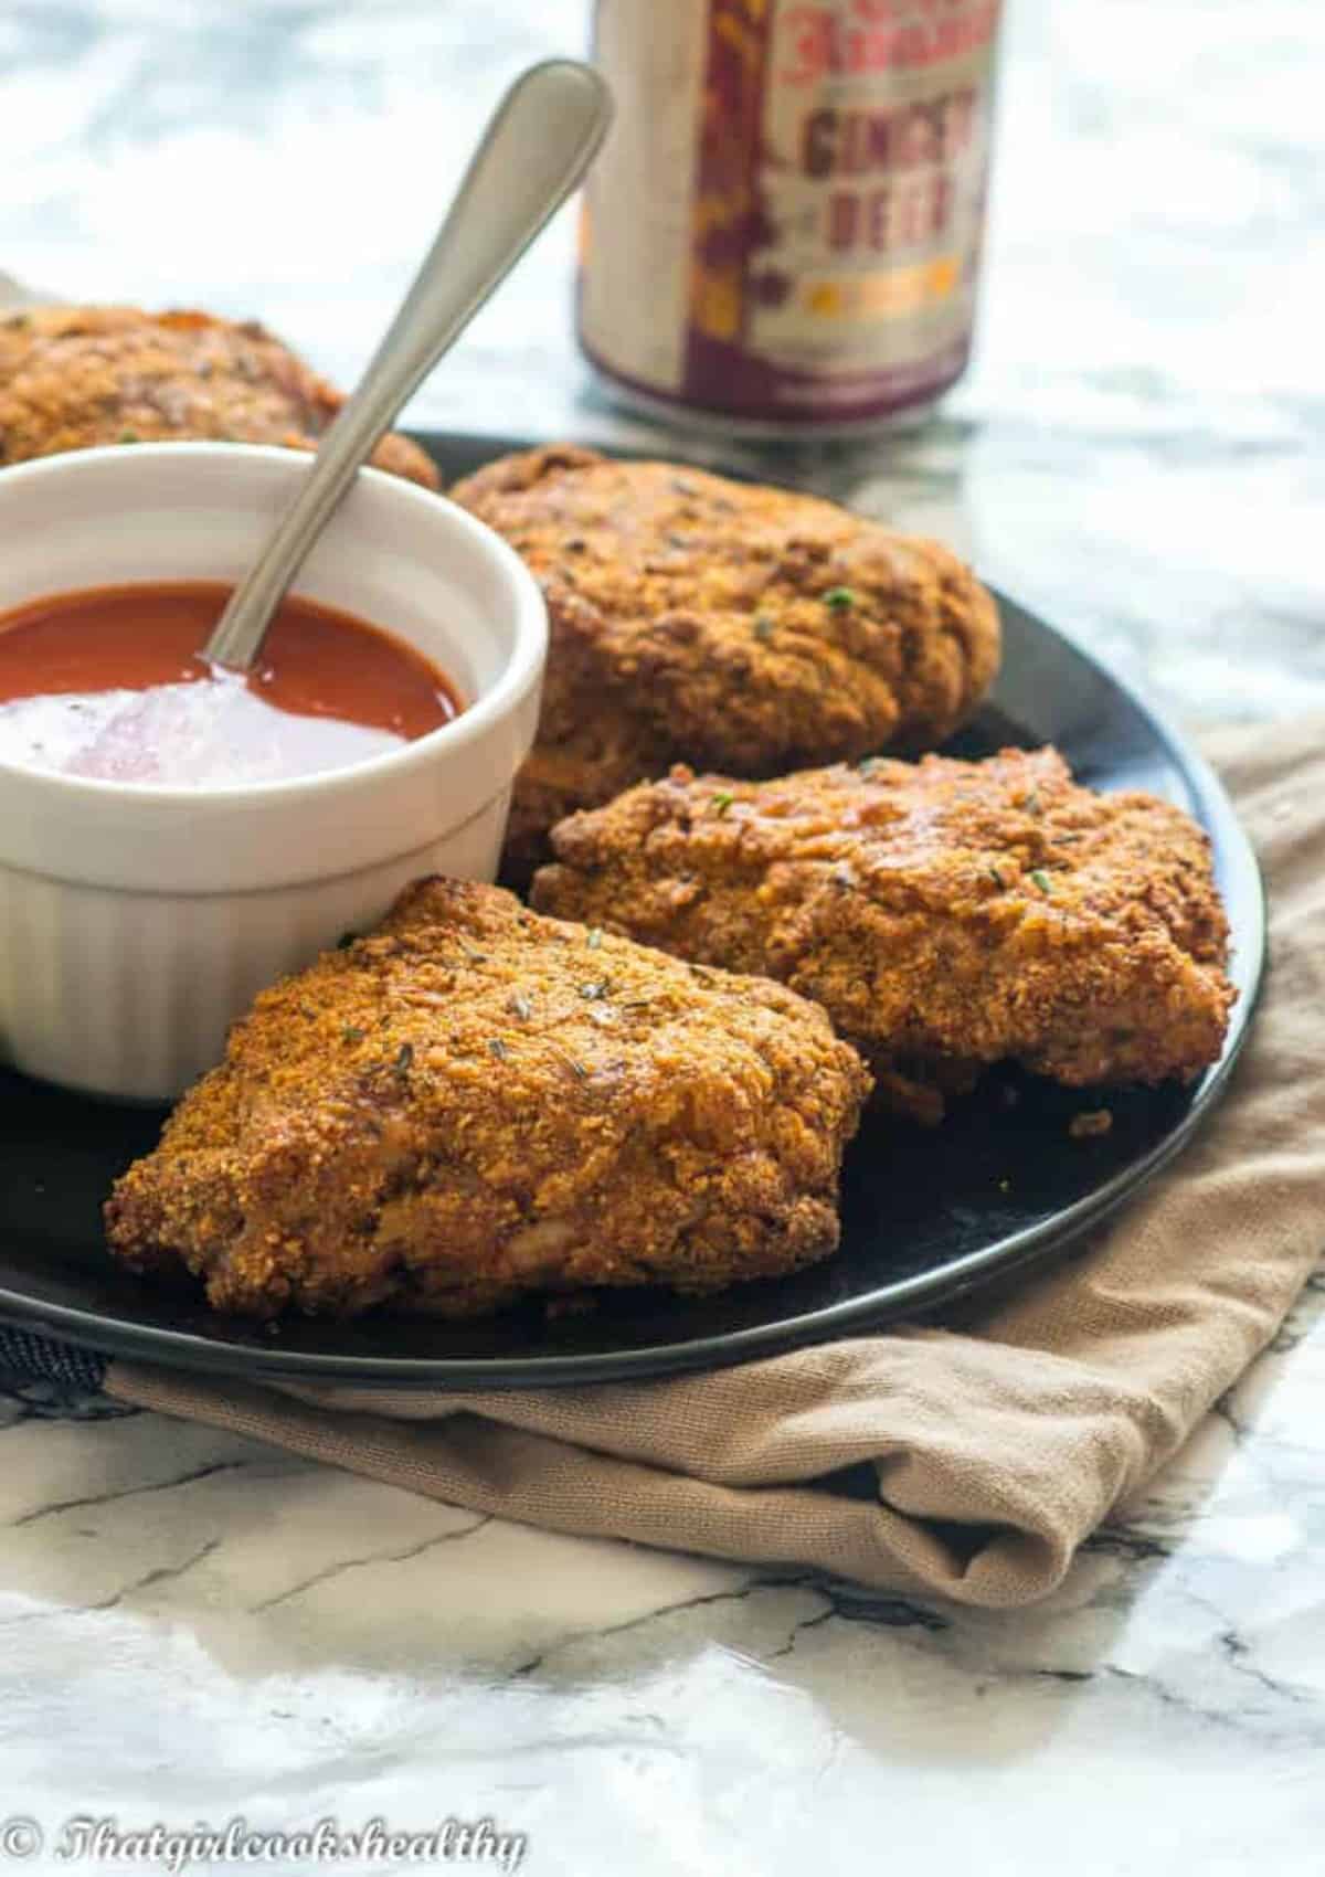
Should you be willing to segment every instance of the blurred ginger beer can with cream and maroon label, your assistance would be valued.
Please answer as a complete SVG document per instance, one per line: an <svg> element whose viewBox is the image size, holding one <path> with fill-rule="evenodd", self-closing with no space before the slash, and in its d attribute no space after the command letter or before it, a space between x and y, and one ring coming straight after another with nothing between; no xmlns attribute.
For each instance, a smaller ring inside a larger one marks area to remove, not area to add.
<svg viewBox="0 0 1325 1877"><path fill-rule="evenodd" d="M597 0L580 343L726 434L916 422L970 357L1000 0Z"/></svg>

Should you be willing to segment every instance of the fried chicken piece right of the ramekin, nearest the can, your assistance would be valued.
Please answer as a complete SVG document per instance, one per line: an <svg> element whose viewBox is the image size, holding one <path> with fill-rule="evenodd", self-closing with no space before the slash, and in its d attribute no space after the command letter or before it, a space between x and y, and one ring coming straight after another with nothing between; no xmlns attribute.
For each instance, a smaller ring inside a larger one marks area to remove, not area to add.
<svg viewBox="0 0 1325 1877"><path fill-rule="evenodd" d="M539 741L507 860L676 760L775 775L929 749L983 696L998 614L935 541L816 496L556 445L452 488L548 599Z"/></svg>

